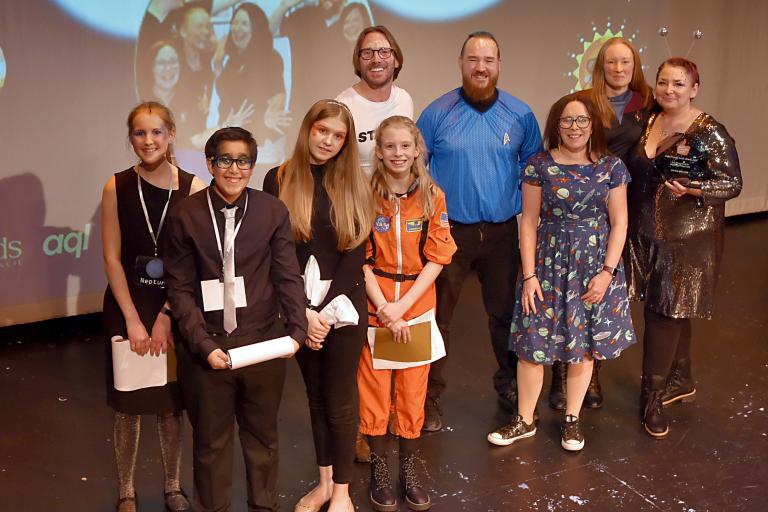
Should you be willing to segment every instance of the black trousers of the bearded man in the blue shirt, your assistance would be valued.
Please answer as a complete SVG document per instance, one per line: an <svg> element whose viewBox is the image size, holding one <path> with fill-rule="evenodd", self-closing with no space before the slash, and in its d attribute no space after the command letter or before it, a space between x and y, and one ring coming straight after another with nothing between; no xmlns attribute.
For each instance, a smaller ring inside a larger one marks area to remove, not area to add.
<svg viewBox="0 0 768 512"><path fill-rule="evenodd" d="M515 307L515 283L520 261L517 220L513 217L498 224L460 224L451 221L451 235L458 250L451 264L437 277L437 325L443 335L448 355L450 327L461 287L474 269L480 279L483 305L488 313L491 345L499 365L493 375L493 386L503 393L514 385L517 355L509 351L509 327ZM467 343L477 343L467 340ZM439 398L445 391L444 357L432 363L427 395Z"/></svg>

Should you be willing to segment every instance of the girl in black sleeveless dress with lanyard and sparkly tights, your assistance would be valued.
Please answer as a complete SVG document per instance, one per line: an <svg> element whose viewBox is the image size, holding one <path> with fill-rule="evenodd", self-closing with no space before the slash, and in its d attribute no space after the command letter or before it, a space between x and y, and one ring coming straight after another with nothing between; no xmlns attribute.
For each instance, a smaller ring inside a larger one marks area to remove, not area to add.
<svg viewBox="0 0 768 512"><path fill-rule="evenodd" d="M135 107L128 116L128 138L139 163L111 177L101 199L104 268L109 282L104 294L107 403L115 410L120 512L136 510L133 476L142 414L157 415L166 509L189 510L179 477L183 405L178 386L171 382L117 391L111 348L111 338L119 336L127 339L131 350L141 356L157 357L169 349L169 354L173 354L171 316L162 275L154 279L157 274L150 270L153 279L146 279L147 275L137 270L137 264L146 269L152 260L161 261L160 241L167 210L205 186L173 165L175 130L173 116L165 106L147 102Z"/></svg>

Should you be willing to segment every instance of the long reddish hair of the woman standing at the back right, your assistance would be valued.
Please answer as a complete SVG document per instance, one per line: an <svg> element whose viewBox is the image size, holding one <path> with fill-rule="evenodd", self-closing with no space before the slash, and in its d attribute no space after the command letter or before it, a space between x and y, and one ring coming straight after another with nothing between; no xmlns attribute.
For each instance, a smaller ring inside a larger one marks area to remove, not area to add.
<svg viewBox="0 0 768 512"><path fill-rule="evenodd" d="M598 112L598 119L606 128L610 128L613 120L616 119L611 102L608 100L605 84L605 53L608 48L615 44L623 44L632 52L632 80L629 82L629 88L638 92L643 98L643 108L649 108L653 105L653 89L646 83L643 75L643 64L640 62L640 54L629 40L623 37L612 37L603 44L595 59L595 67L592 69L592 89L590 96L592 103L595 104Z"/></svg>

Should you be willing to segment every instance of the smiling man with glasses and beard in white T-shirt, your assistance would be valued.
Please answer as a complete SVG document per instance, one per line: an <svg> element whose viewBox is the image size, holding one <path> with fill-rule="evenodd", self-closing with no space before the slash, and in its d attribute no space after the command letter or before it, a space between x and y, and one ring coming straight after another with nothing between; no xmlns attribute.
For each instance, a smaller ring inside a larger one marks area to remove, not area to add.
<svg viewBox="0 0 768 512"><path fill-rule="evenodd" d="M342 91L336 99L352 112L360 167L371 176L376 127L395 115L412 119L413 100L405 89L394 84L403 69L403 52L386 27L368 27L360 33L352 54L352 65L360 81Z"/></svg>

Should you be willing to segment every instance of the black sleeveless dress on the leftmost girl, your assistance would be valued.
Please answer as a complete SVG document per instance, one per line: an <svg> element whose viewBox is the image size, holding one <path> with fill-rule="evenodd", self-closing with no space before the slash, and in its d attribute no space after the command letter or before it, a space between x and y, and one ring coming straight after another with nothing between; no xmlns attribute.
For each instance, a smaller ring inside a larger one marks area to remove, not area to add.
<svg viewBox="0 0 768 512"><path fill-rule="evenodd" d="M194 176L179 169L179 188L171 194L168 211L189 195ZM147 333L152 332L152 325L166 300L166 289L140 286L135 282L135 264L137 256L153 256L155 246L147 229L144 213L139 200L138 174L133 168L115 174L115 192L117 195L117 218L120 221L120 260L128 281L128 291L139 313ZM168 200L168 189L158 188L142 179L141 189L147 206L147 213L152 229L157 235L160 217ZM166 219L168 214L166 213ZM158 237L158 257L162 258L162 240L165 229ZM106 376L107 404L114 410L126 414L168 414L181 411L184 406L177 382L170 382L162 387L138 389L136 391L118 391L112 381L112 345L115 335L128 337L120 306L112 290L107 286L104 293L104 338L106 341ZM147 356L149 357L149 356ZM175 370L175 364L172 371Z"/></svg>

